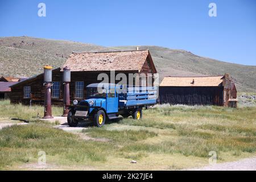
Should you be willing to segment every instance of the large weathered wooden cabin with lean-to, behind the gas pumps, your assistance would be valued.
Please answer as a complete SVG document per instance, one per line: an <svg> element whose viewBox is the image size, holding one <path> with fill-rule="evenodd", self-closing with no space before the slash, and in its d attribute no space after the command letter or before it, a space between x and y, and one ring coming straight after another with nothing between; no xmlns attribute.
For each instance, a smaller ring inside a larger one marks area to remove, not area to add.
<svg viewBox="0 0 256 182"><path fill-rule="evenodd" d="M129 73L144 73L146 79L156 73L156 68L148 50L117 52L73 52L62 68L52 71L52 105L63 105L63 68L71 68L70 98L86 98L86 86L95 82L100 73L110 76L110 71L124 73L129 82ZM152 78L154 80L154 77ZM136 85L141 79L133 78ZM109 79L109 82L112 80ZM119 80L115 81L118 83ZM44 104L43 73L11 86L11 103L24 105Z"/></svg>

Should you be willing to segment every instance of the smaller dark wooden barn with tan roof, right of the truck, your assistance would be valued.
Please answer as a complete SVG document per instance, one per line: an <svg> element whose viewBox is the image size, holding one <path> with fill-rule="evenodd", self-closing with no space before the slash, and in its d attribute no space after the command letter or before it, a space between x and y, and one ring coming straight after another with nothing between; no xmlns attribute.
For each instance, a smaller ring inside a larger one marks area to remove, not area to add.
<svg viewBox="0 0 256 182"><path fill-rule="evenodd" d="M160 104L228 106L237 98L229 74L205 77L164 77L159 86Z"/></svg>

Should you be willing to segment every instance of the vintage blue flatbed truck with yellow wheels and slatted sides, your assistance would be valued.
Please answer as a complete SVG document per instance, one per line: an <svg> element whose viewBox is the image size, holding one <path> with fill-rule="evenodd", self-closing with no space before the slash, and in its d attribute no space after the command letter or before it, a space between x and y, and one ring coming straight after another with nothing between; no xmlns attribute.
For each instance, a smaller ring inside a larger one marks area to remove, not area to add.
<svg viewBox="0 0 256 182"><path fill-rule="evenodd" d="M108 119L119 115L142 118L142 109L156 104L155 86L140 87L118 84L90 84L86 86L86 100L73 101L68 113L68 125L75 127L80 121L90 120L101 127Z"/></svg>

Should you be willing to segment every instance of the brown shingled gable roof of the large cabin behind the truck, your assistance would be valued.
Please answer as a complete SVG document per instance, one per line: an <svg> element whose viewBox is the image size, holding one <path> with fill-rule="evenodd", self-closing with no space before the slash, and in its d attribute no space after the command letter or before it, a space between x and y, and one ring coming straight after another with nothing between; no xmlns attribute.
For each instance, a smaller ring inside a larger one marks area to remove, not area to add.
<svg viewBox="0 0 256 182"><path fill-rule="evenodd" d="M147 56L156 73L155 65L148 50L115 52L73 52L62 68L68 66L71 71L141 71ZM61 69L62 71L62 69Z"/></svg>

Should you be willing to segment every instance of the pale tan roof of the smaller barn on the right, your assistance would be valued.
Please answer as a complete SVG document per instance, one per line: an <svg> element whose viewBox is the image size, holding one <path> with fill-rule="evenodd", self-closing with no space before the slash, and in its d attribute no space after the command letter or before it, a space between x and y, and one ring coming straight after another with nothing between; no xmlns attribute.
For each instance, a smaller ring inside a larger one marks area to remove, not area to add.
<svg viewBox="0 0 256 182"><path fill-rule="evenodd" d="M223 76L164 77L160 86L221 86L222 79Z"/></svg>

